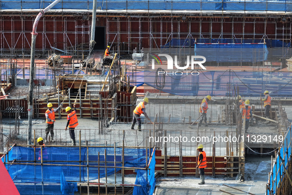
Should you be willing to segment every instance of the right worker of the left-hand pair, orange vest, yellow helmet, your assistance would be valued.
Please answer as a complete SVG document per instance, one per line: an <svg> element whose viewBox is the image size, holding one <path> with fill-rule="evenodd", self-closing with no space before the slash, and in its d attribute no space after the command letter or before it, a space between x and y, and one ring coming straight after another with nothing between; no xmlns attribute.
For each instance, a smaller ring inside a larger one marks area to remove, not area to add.
<svg viewBox="0 0 292 195"><path fill-rule="evenodd" d="M67 131L67 127L69 126L69 133L71 137L71 146L76 146L75 142L75 127L78 126L78 119L76 114L76 107L74 103L74 111L71 111L71 107L67 106L65 111L67 112L67 125L65 130Z"/></svg>

